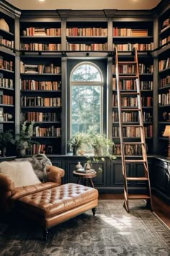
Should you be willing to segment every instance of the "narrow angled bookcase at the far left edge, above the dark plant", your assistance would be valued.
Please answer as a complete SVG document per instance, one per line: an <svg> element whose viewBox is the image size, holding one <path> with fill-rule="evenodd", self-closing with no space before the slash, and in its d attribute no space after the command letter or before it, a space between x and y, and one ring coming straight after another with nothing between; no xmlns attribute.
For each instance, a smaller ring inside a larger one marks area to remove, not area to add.
<svg viewBox="0 0 170 256"><path fill-rule="evenodd" d="M15 130L15 51L14 16L0 11L6 26L0 29L0 132ZM0 148L1 149L1 148ZM6 155L9 155L7 149Z"/></svg>

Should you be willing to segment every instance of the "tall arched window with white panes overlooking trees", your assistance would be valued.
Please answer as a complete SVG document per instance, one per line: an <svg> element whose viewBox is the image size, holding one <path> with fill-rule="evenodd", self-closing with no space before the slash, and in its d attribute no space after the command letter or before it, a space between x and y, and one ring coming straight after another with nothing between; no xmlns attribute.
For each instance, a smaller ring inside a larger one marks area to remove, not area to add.
<svg viewBox="0 0 170 256"><path fill-rule="evenodd" d="M76 65L70 77L70 132L102 133L103 77L102 72L92 62Z"/></svg>

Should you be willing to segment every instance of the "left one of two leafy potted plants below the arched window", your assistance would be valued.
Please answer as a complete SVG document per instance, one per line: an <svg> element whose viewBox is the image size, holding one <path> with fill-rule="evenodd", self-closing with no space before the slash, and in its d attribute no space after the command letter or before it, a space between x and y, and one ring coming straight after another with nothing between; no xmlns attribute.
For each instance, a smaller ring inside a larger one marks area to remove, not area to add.
<svg viewBox="0 0 170 256"><path fill-rule="evenodd" d="M70 140L68 140L68 145L73 150L73 155L78 154L78 150L83 144L89 144L89 136L84 132L77 132Z"/></svg>

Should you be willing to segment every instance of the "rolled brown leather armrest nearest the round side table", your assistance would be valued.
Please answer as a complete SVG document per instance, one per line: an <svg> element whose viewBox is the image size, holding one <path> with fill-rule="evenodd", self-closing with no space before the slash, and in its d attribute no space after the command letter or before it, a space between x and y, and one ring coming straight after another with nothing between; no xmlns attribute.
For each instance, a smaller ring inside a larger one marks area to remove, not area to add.
<svg viewBox="0 0 170 256"><path fill-rule="evenodd" d="M48 182L56 182L61 184L61 178L64 176L65 171L56 166L46 166Z"/></svg>

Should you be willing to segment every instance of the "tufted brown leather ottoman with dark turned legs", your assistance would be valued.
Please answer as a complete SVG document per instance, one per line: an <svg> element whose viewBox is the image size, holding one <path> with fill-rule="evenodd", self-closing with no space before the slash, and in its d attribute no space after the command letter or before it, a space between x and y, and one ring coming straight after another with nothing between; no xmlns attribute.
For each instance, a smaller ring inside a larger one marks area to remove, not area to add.
<svg viewBox="0 0 170 256"><path fill-rule="evenodd" d="M40 223L45 239L48 229L91 209L95 215L98 204L97 189L68 183L44 189L18 199L19 210Z"/></svg>

